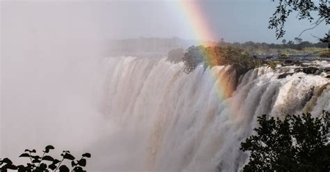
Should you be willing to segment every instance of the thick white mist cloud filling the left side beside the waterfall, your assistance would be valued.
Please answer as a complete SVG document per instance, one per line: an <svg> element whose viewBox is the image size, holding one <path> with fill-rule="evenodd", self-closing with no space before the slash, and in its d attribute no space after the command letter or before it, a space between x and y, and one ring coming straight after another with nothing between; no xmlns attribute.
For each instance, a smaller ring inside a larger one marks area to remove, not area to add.
<svg viewBox="0 0 330 172"><path fill-rule="evenodd" d="M77 150L100 135L105 50L85 4L1 1L1 157Z"/></svg>

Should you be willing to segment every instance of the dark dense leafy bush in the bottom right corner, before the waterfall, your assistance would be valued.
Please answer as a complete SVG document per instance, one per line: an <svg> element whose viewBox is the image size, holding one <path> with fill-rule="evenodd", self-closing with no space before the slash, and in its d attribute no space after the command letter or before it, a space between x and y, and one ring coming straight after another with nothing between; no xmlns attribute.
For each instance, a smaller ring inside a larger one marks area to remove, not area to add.
<svg viewBox="0 0 330 172"><path fill-rule="evenodd" d="M267 119L258 117L257 135L241 143L250 153L243 171L330 171L330 114Z"/></svg>

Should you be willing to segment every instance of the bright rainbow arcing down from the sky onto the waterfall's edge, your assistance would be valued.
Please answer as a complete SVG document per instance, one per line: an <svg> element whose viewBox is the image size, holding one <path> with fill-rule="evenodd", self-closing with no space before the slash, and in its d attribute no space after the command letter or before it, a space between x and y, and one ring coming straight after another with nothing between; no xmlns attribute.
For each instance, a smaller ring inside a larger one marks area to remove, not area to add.
<svg viewBox="0 0 330 172"><path fill-rule="evenodd" d="M210 29L210 24L207 24L207 17L201 10L201 5L196 1L179 1L180 10L183 11L184 19L189 23L189 28L194 33L194 38L197 40L196 45L203 45L204 47L214 46L214 42L207 40L214 40L217 36L214 31ZM203 53L203 52L202 52ZM204 61L210 66L214 66L215 63L212 59L215 59L213 54L203 53ZM212 79L217 83L217 94L221 100L226 100L233 93L232 84L223 83L217 80L219 79L219 72L212 70ZM221 76L221 79L227 81L229 76Z"/></svg>

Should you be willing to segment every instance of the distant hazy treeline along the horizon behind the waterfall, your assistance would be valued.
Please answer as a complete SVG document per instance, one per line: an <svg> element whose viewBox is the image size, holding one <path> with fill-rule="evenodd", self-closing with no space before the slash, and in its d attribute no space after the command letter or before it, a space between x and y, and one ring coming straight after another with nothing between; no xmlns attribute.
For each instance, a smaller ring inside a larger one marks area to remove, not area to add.
<svg viewBox="0 0 330 172"><path fill-rule="evenodd" d="M129 56L144 56L143 54L167 54L171 49L187 49L195 45L198 46L198 40L185 40L182 38L132 38L125 40L111 40L109 42L109 55L129 55ZM223 39L219 42L207 42L208 45L220 47L237 47L244 49L244 52L249 54L310 54L327 50L327 43L317 42L312 43L303 41L300 38L294 40L283 40L281 44L265 43L265 42L225 42Z"/></svg>

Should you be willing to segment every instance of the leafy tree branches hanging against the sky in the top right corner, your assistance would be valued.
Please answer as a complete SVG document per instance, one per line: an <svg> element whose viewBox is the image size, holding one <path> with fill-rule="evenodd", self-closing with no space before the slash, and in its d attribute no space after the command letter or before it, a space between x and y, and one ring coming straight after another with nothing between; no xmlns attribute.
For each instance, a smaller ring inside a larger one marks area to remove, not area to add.
<svg viewBox="0 0 330 172"><path fill-rule="evenodd" d="M273 0L274 1L274 0ZM330 13L329 7L327 6L327 1L320 0L319 3L315 4L311 0L297 0L297 1L286 1L279 0L278 6L272 17L269 19L269 29L275 29L276 38L282 38L285 34L284 24L286 19L289 17L292 12L296 11L297 17L299 20L307 19L309 22L313 22L311 28L301 31L298 37L301 36L305 31L314 29L316 26L320 25L322 22L325 22L326 25L330 22ZM311 15L311 13L317 12L317 19ZM322 42L329 42L329 33L325 33L324 38L319 38Z"/></svg>

